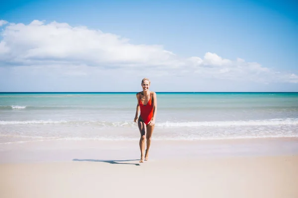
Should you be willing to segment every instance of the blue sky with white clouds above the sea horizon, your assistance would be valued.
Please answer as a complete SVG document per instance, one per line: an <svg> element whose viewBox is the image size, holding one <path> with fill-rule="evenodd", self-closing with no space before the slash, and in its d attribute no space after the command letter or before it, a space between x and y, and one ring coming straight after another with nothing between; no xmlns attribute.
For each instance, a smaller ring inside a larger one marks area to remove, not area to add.
<svg viewBox="0 0 298 198"><path fill-rule="evenodd" d="M4 2L0 91L138 91L148 77L154 91L297 92L296 10L295 0Z"/></svg>

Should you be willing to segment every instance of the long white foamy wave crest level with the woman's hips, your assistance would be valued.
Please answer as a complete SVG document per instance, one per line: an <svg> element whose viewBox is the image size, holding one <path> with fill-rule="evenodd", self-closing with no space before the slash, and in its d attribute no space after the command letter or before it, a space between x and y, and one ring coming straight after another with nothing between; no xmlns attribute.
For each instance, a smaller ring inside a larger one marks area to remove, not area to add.
<svg viewBox="0 0 298 198"><path fill-rule="evenodd" d="M0 125L12 124L71 124L71 125L97 125L107 127L133 127L136 123L131 121L107 122L107 121L66 121L66 120L27 120L27 121L0 121ZM210 121L210 122L160 122L156 127L228 127L228 126L274 126L274 125L298 125L298 119L269 119L269 120L239 120L239 121Z"/></svg>

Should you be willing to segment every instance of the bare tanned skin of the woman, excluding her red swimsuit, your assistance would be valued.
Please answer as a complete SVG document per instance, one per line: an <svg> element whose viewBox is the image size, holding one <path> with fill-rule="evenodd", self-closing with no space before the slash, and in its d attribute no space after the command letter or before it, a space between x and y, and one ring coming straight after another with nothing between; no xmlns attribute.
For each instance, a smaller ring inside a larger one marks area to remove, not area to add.
<svg viewBox="0 0 298 198"><path fill-rule="evenodd" d="M150 82L145 80L142 84L143 92L140 92L137 94L138 104L137 104L137 110L136 110L136 116L135 116L134 122L138 122L138 127L139 127L140 134L141 134L141 138L140 138L141 159L140 159L140 162L144 162L144 156L145 156L145 160L148 160L149 148L150 148L150 144L151 144L151 136L152 136L154 126L155 126L155 117L156 117L156 112L157 112L156 93L150 92L149 87L150 87ZM140 105L139 105L140 96L141 96L141 102L145 105L148 103L150 98L152 99L153 117L150 120L150 122L148 123L148 125L146 125L143 122L142 118L138 119L138 115L140 112ZM145 142L147 142L147 144ZM145 145L147 146L146 150L145 150Z"/></svg>

